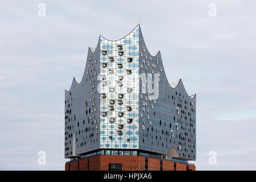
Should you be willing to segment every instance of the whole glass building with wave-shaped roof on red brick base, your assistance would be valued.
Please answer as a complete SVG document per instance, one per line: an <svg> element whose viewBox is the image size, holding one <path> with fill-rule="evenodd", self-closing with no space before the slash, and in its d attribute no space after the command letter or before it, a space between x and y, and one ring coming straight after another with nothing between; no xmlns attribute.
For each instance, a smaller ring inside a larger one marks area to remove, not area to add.
<svg viewBox="0 0 256 182"><path fill-rule="evenodd" d="M168 82L139 24L119 40L100 36L81 81L65 90L65 158L77 170L195 169L196 94Z"/></svg>

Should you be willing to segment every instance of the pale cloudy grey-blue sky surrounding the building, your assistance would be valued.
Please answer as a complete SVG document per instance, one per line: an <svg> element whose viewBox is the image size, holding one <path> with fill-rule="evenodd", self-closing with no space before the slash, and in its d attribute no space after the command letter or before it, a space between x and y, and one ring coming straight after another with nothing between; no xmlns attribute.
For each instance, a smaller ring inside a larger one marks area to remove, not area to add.
<svg viewBox="0 0 256 182"><path fill-rule="evenodd" d="M255 7L253 0L2 0L0 170L64 170L64 90L82 78L100 35L117 40L138 23L149 51L161 51L168 81L182 78L196 93L197 160L189 163L255 170Z"/></svg>

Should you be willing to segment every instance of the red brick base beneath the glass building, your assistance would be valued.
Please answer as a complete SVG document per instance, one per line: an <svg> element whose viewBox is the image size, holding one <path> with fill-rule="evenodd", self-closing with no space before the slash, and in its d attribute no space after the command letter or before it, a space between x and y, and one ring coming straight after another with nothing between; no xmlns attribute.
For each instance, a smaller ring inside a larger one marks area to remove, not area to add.
<svg viewBox="0 0 256 182"><path fill-rule="evenodd" d="M144 156L118 156L118 155L98 155L85 159L77 159L65 164L65 171L108 171L109 164L122 164L122 171L145 171ZM148 171L196 171L196 167L191 164L163 160L162 168L160 159L147 158Z"/></svg>

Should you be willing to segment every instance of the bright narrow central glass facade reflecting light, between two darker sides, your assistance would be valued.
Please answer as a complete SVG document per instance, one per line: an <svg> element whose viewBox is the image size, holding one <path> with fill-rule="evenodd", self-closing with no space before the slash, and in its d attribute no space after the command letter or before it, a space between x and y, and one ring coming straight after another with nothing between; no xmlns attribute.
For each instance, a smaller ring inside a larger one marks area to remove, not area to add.
<svg viewBox="0 0 256 182"><path fill-rule="evenodd" d="M139 147L138 32L117 41L100 37L100 148Z"/></svg>

